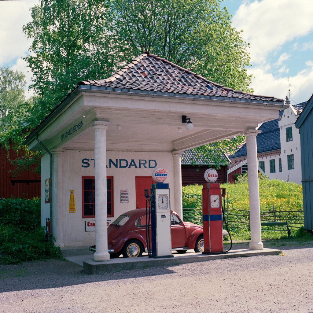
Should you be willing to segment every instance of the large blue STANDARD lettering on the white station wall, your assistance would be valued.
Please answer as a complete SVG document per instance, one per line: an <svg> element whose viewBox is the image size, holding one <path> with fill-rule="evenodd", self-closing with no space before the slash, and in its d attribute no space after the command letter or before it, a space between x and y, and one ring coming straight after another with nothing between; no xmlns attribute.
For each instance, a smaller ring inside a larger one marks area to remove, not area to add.
<svg viewBox="0 0 313 313"><path fill-rule="evenodd" d="M81 167L95 167L95 159L82 159ZM156 168L156 160L126 160L126 159L109 159L107 168Z"/></svg>

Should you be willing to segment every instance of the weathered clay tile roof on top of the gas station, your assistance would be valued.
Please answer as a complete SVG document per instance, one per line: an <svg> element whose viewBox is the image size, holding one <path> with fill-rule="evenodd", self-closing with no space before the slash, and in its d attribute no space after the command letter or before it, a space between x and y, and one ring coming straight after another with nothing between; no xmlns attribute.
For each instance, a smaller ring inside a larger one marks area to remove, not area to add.
<svg viewBox="0 0 313 313"><path fill-rule="evenodd" d="M213 99L284 102L273 96L253 95L213 83L149 52L139 55L107 79L80 81L77 85L202 95Z"/></svg>

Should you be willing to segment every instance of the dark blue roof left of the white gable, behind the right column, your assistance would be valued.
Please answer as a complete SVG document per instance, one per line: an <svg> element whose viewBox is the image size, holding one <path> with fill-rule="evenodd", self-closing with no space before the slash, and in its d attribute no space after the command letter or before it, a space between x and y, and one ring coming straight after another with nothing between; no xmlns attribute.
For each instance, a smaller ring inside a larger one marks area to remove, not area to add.
<svg viewBox="0 0 313 313"><path fill-rule="evenodd" d="M279 115L282 116L284 110L279 111ZM280 149L280 130L278 127L278 118L272 121L263 123L259 130L262 132L256 136L257 152L263 153L266 151L273 151ZM239 150L237 150L230 159L246 156L247 144L244 144Z"/></svg>

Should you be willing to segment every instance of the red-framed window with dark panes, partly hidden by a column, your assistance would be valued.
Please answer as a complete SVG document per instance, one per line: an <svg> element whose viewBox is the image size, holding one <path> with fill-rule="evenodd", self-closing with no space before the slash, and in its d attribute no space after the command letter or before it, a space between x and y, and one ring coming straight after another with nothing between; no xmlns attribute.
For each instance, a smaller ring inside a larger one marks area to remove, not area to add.
<svg viewBox="0 0 313 313"><path fill-rule="evenodd" d="M113 176L106 177L106 193L107 193L107 212L108 217L114 216L113 211ZM95 177L82 177L82 217L95 217Z"/></svg>

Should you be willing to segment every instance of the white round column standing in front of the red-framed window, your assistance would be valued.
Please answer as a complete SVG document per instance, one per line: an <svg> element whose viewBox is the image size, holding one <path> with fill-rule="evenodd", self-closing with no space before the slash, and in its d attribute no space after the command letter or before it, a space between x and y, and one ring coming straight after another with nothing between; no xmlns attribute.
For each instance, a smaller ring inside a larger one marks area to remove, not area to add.
<svg viewBox="0 0 313 313"><path fill-rule="evenodd" d="M108 227L106 196L106 130L110 122L96 121L95 129L95 223L94 261L108 261Z"/></svg>

